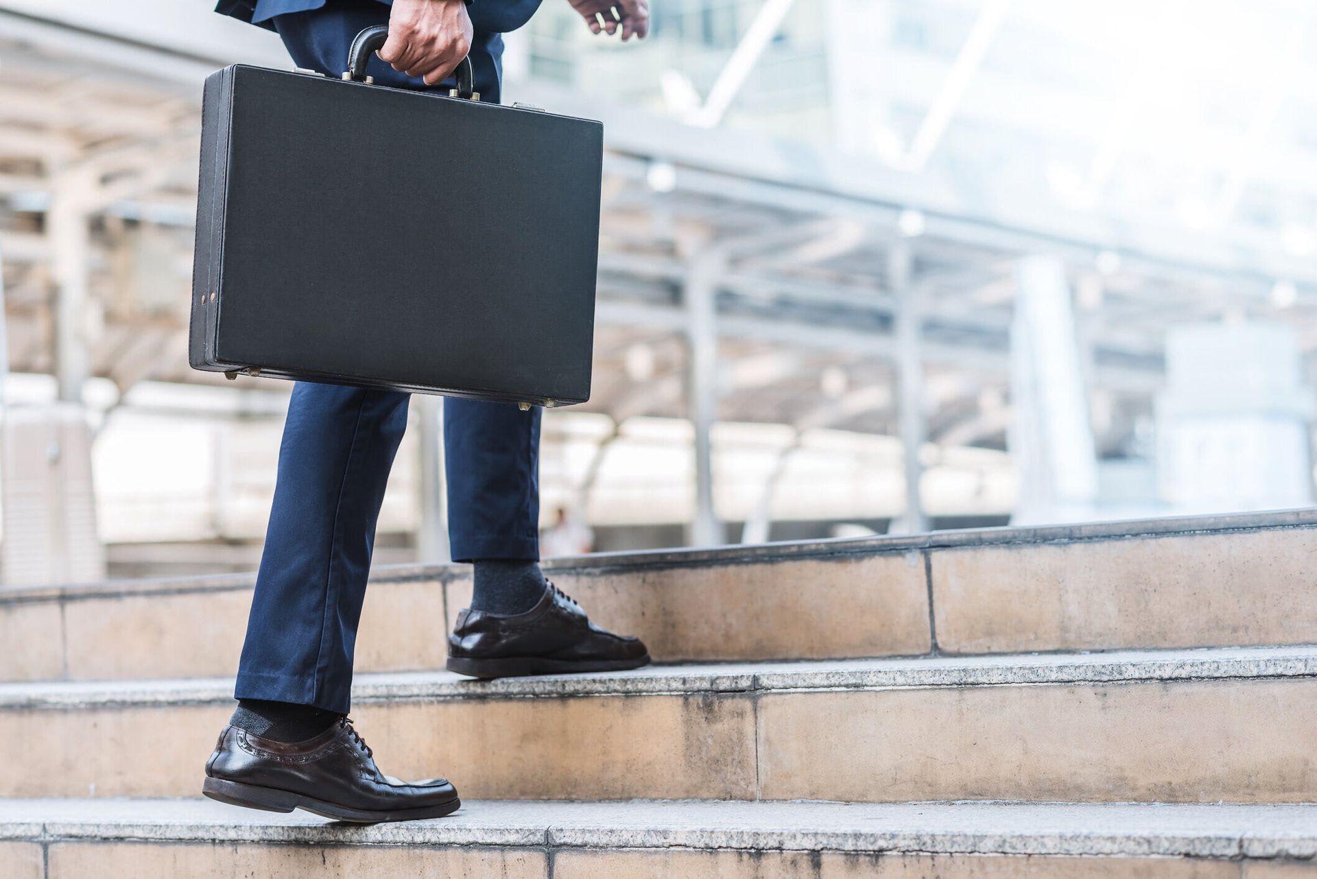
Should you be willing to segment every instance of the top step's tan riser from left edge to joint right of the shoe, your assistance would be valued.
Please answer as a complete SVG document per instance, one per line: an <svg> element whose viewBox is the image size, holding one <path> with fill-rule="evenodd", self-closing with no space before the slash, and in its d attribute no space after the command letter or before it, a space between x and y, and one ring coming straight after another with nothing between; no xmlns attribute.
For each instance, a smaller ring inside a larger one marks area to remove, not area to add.
<svg viewBox="0 0 1317 879"><path fill-rule="evenodd" d="M564 571L553 579L601 625L661 661L918 655L930 649L918 553L689 570ZM371 583L357 671L443 668L470 579ZM232 675L249 586L3 603L4 680ZM846 612L839 612L846 608Z"/></svg>

